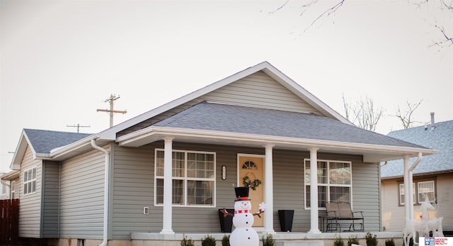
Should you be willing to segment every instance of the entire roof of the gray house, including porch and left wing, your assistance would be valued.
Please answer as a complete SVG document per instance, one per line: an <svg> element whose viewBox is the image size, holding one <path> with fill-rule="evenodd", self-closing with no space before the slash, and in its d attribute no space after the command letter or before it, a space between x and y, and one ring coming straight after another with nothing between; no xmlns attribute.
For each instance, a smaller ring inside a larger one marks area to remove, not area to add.
<svg viewBox="0 0 453 246"><path fill-rule="evenodd" d="M321 116L250 106L206 102L195 106L195 103L192 104L212 91L257 72L264 72L277 83L292 91L306 104L315 108ZM191 102L191 104L187 104L188 102ZM187 108L188 105L191 105L192 108ZM154 118L154 116L159 116L161 113L172 112L176 108L179 109L174 111L176 114L173 116L163 114L164 119L161 122L154 123L149 127L132 128L132 126ZM180 121L181 118L184 118L184 121ZM125 133L125 135L117 136L117 133L127 128L133 130ZM33 134L30 132L30 135ZM287 150L306 151L308 148L319 148L322 152L362 155L364 162L396 160L405 155L413 157L419 154L432 155L435 153L434 150L420 145L413 145L356 128L346 118L268 62L249 67L242 72L154 108L101 133L80 135L80 137L79 140L68 140L69 144L67 145L64 145L65 142L56 142L55 146L49 146L51 142L30 143L33 140L28 139L28 134L24 131L11 169L16 169L14 167L21 164L21 158L27 145L33 146L35 158L65 160L82 152L93 150L93 144L103 145L115 141L122 146L137 147L162 140L164 137L176 137L176 140L181 142L219 145L248 147L275 145L275 148ZM54 138L61 138L61 136L55 135ZM74 140L76 141L72 142Z"/></svg>

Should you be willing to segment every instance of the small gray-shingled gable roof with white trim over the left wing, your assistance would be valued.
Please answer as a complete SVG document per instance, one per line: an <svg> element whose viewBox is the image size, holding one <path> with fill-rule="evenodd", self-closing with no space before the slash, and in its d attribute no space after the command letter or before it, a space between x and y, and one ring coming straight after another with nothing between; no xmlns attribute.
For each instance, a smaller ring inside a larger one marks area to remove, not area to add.
<svg viewBox="0 0 453 246"><path fill-rule="evenodd" d="M55 130L23 129L18 147L11 162L11 169L20 167L27 146L30 146L33 156L47 157L51 152L87 138L91 134L68 133Z"/></svg>

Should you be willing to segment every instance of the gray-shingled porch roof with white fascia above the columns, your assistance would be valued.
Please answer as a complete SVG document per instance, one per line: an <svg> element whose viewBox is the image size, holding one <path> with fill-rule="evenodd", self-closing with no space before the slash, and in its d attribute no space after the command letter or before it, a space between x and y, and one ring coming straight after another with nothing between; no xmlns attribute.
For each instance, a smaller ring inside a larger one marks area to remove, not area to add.
<svg viewBox="0 0 453 246"><path fill-rule="evenodd" d="M177 136L178 141L363 155L365 162L431 155L434 151L354 125L311 113L279 111L202 102L142 130L117 138L122 146L138 147Z"/></svg>

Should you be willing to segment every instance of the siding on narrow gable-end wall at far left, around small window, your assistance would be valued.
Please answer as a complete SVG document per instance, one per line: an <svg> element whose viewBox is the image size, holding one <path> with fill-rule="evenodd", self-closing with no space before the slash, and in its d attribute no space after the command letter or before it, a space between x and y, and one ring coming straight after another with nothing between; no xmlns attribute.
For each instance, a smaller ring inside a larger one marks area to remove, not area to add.
<svg viewBox="0 0 453 246"><path fill-rule="evenodd" d="M36 167L36 193L24 195L23 172L32 167ZM33 152L31 152L30 147L25 150L21 163L20 179L19 237L40 237L42 161L33 160Z"/></svg>

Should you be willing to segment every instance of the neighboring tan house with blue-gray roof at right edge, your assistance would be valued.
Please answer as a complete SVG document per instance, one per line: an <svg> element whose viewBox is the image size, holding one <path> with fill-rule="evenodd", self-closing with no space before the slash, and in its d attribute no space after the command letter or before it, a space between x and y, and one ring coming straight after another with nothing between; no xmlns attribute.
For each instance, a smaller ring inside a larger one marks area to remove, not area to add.
<svg viewBox="0 0 453 246"><path fill-rule="evenodd" d="M420 220L420 203L425 197L438 206L430 211L430 218L443 217L445 231L453 230L453 121L435 123L434 113L430 125L396 130L389 133L417 145L437 150L436 155L423 157L413 169L413 218ZM413 163L414 160L411 160ZM387 231L401 231L404 228L403 162L394 160L381 168L382 177L382 224Z"/></svg>

